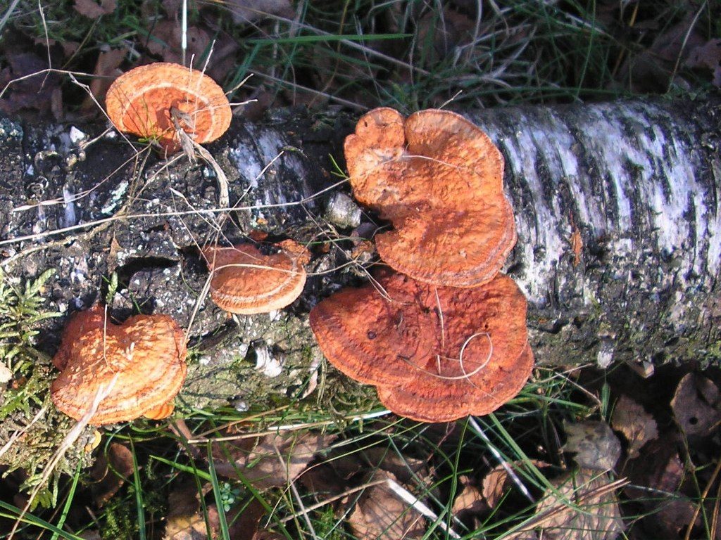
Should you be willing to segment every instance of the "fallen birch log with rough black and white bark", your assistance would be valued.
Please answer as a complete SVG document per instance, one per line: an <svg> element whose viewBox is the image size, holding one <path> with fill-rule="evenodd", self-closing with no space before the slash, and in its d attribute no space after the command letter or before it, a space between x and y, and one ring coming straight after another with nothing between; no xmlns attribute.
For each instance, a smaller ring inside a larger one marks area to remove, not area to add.
<svg viewBox="0 0 721 540"><path fill-rule="evenodd" d="M717 100L468 116L505 156L518 228L507 271L528 296L539 362L721 359ZM192 320L191 343L201 355L213 351L200 362L197 381L218 377L248 348L273 351L291 372L296 366L306 374L309 361L319 359L309 308L362 275L348 265L350 229L324 217L331 194L350 192L332 174L329 156L342 161L342 139L352 129L345 117L292 110L275 111L262 125L236 120L229 135L208 146L230 182L236 210L226 212L217 206L213 169L202 162L136 155L120 137L89 143L98 127L79 132L0 120L4 267L22 279L55 268L50 308L63 311L104 298L115 272L118 317L139 305L186 327ZM258 228L270 238L317 243L309 266L316 275L283 314L231 323L205 300L193 318L207 276L198 246L213 241L223 215L230 219L221 223L221 234L229 240ZM46 322L41 348L55 350L65 321ZM249 395L229 386L234 377L211 392L193 387L192 376L186 395ZM277 386L299 379L296 373Z"/></svg>

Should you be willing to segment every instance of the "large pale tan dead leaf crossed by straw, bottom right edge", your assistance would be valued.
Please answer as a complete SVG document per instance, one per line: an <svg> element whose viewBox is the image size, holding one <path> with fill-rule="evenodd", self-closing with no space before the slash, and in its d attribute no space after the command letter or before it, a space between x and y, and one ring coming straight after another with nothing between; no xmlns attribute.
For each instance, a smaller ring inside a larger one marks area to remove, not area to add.
<svg viewBox="0 0 721 540"><path fill-rule="evenodd" d="M614 540L624 530L616 493L603 493L606 473L580 469L552 483L555 489L546 490L536 508L539 515L552 513L541 527L545 540Z"/></svg>

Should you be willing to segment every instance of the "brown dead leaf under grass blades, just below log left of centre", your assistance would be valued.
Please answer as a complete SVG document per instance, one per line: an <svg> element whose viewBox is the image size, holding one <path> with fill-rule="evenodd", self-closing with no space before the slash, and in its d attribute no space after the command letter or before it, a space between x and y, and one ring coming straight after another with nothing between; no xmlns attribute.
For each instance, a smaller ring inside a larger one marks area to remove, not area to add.
<svg viewBox="0 0 721 540"><path fill-rule="evenodd" d="M242 446L226 444L234 462L226 460L221 448L213 449L216 470L225 477L239 474L252 482L257 489L287 486L304 471L309 462L325 449L335 436L318 433L285 433L263 437L250 451Z"/></svg>

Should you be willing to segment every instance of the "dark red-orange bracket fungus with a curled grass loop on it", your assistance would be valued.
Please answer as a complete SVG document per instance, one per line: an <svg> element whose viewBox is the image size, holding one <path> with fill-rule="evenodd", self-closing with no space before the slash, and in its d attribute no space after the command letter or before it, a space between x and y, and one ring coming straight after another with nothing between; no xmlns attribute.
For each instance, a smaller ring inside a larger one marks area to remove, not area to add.
<svg viewBox="0 0 721 540"><path fill-rule="evenodd" d="M426 422L484 415L518 394L534 360L512 279L459 289L386 274L378 284L382 293L344 289L311 310L319 346L341 372Z"/></svg>

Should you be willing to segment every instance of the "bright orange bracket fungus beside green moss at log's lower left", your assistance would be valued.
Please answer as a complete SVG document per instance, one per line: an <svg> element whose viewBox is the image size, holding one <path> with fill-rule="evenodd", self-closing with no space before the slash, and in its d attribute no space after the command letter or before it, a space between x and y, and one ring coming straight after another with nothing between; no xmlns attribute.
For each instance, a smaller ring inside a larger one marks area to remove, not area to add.
<svg viewBox="0 0 721 540"><path fill-rule="evenodd" d="M63 332L50 386L58 410L79 420L104 388L89 423L125 422L145 415L165 418L185 380L185 336L168 315L135 315L122 325L102 306L76 313Z"/></svg>

